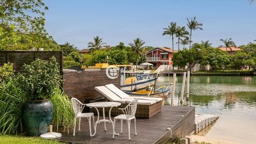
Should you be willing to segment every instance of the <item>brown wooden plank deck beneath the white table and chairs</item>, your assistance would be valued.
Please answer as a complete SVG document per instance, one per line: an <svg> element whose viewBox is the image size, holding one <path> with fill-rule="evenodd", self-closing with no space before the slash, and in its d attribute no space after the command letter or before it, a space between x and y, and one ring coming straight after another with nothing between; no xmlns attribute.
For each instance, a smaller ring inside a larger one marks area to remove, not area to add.
<svg viewBox="0 0 256 144"><path fill-rule="evenodd" d="M90 137L87 118L83 118L81 130L76 130L75 136L72 135L73 129L69 134L66 132L67 130L63 132L60 129L59 133L62 133L62 137L59 138L59 141L68 143L166 143L193 133L194 117L194 107L162 106L162 111L151 118L136 118L137 135L135 135L134 122L131 122L131 140L128 140L125 121L123 134L120 134L120 121L116 122L115 132L119 133L119 136L115 136L113 139L111 123L106 123L106 132L103 130L103 123L97 124L96 135ZM171 132L167 128L172 129L172 138L170 137Z"/></svg>

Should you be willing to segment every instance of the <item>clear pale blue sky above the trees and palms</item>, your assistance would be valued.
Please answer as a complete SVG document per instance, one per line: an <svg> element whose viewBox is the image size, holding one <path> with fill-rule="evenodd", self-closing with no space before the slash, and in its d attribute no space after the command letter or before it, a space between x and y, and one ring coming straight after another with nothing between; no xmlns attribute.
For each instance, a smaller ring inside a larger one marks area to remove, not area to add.
<svg viewBox="0 0 256 144"><path fill-rule="evenodd" d="M171 47L169 35L162 35L170 22L186 26L196 17L203 30L192 31L192 41L232 38L236 46L256 39L256 1L247 0L45 0L47 32L58 44L69 42L87 48L99 36L109 46L129 45L139 37L145 46ZM186 30L189 30L186 26ZM174 39L177 42L178 39ZM188 46L186 46L188 47ZM178 49L174 45L174 49Z"/></svg>

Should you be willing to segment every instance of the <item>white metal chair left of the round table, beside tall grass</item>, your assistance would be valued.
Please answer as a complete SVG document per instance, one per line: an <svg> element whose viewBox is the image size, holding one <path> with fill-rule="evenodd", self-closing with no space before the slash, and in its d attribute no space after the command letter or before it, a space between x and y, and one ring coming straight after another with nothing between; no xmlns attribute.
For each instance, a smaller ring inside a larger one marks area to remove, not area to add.
<svg viewBox="0 0 256 144"><path fill-rule="evenodd" d="M71 102L72 102L73 110L75 112L75 122L74 122L75 126L74 126L74 134L73 135L75 135L75 131L76 131L76 119L79 118L78 130L80 130L81 117L87 117L87 119L89 121L90 136L93 136L92 135L92 129L91 129L91 118L93 118L93 126L94 126L94 129L95 129L93 112L82 113L86 104L81 103L76 98L71 98Z"/></svg>

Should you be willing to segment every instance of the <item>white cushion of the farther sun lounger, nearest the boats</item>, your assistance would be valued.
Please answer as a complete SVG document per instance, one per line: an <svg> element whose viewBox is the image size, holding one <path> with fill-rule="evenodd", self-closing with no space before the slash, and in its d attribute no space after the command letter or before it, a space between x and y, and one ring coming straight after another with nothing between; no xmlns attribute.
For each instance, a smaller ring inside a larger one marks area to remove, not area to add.
<svg viewBox="0 0 256 144"><path fill-rule="evenodd" d="M119 96L120 98L136 98L136 99L144 99L144 100L155 100L157 102L160 102L160 101L163 100L163 98L161 98L161 97L131 97L131 96L127 95L127 93L125 93L125 92L121 91L120 89L118 89L118 87L113 85L113 84L107 84L105 86L109 90L114 92L115 95Z"/></svg>

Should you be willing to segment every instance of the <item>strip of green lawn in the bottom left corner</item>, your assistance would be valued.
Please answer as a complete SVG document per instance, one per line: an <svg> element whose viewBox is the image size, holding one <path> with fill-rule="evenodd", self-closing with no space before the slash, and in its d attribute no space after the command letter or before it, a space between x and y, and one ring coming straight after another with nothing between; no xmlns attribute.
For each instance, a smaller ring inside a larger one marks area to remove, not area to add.
<svg viewBox="0 0 256 144"><path fill-rule="evenodd" d="M4 144L63 144L62 142L58 142L57 140L45 140L40 137L25 137L25 136L3 136L0 135L0 143Z"/></svg>

